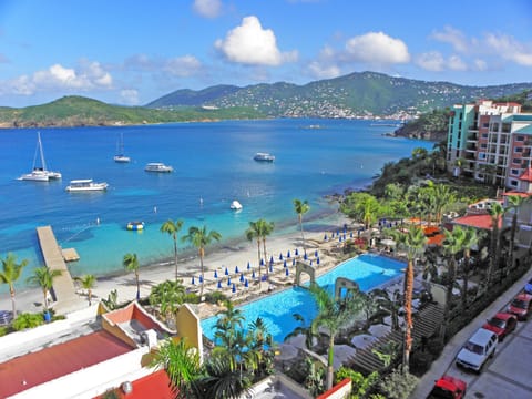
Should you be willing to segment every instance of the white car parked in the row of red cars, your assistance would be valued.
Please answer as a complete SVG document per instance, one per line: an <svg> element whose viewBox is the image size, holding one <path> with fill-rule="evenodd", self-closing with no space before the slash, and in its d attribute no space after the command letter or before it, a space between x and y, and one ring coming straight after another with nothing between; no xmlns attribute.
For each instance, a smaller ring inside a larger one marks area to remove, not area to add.
<svg viewBox="0 0 532 399"><path fill-rule="evenodd" d="M495 354L498 341L495 332L479 328L458 352L457 366L480 372L488 358Z"/></svg>

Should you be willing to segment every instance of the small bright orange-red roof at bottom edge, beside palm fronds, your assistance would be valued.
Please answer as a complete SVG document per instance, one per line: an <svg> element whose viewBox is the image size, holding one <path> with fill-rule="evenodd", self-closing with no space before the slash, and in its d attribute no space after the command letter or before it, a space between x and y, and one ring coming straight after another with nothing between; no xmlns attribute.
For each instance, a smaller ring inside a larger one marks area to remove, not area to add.
<svg viewBox="0 0 532 399"><path fill-rule="evenodd" d="M132 391L127 395L121 389L115 389L119 398L123 399L174 399L175 391L170 385L170 378L165 370L158 370L135 381L132 381ZM98 397L103 398L102 396Z"/></svg>

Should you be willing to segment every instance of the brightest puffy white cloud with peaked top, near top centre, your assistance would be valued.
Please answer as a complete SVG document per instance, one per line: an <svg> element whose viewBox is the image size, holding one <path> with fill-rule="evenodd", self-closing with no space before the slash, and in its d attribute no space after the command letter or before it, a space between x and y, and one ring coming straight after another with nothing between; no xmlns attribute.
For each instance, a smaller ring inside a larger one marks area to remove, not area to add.
<svg viewBox="0 0 532 399"><path fill-rule="evenodd" d="M282 53L277 48L275 33L263 29L257 17L245 17L242 24L218 39L214 45L227 58L237 63L277 66L283 62L297 60L297 51Z"/></svg>

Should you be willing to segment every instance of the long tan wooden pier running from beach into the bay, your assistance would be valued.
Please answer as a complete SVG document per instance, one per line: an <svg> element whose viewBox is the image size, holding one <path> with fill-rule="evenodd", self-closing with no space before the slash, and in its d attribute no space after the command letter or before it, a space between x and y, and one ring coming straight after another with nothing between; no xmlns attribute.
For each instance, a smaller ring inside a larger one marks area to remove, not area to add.
<svg viewBox="0 0 532 399"><path fill-rule="evenodd" d="M37 227L37 235L47 267L50 270L61 270L61 275L53 279L52 289L57 300L57 304L53 306L54 310L64 314L79 308L83 301L75 294L74 282L66 268L63 253L55 239L52 227Z"/></svg>

